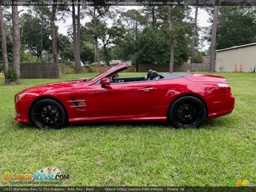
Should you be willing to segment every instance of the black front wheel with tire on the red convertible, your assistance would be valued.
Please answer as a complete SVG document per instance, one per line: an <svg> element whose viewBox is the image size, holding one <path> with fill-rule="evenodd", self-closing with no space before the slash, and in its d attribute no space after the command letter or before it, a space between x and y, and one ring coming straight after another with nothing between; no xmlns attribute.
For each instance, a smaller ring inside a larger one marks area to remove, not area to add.
<svg viewBox="0 0 256 192"><path fill-rule="evenodd" d="M42 99L34 104L31 110L32 123L42 129L59 129L65 125L65 109L57 101Z"/></svg>

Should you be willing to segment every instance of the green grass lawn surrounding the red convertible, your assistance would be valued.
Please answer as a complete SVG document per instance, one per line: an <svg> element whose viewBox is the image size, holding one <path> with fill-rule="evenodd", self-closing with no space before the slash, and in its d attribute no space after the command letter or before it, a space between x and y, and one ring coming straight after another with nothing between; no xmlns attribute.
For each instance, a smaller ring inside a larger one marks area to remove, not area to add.
<svg viewBox="0 0 256 192"><path fill-rule="evenodd" d="M94 75L66 74L61 81ZM15 122L14 95L60 80L22 79L22 85L5 86L0 76L0 186L10 186L5 171L34 173L48 166L70 175L63 186L227 186L230 179L256 186L256 74L217 75L229 81L235 109L199 129L102 123L50 131Z"/></svg>

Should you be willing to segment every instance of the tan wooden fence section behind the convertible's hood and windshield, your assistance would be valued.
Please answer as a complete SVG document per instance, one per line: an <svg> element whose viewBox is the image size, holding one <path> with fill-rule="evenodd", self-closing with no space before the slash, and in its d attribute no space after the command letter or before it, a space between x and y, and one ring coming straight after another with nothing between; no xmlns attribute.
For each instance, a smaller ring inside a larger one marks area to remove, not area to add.
<svg viewBox="0 0 256 192"><path fill-rule="evenodd" d="M90 67L82 67L83 73L93 72L93 73L102 73L108 69L110 69L112 66L90 66ZM69 66L60 66L61 73L75 73L74 67ZM136 66L129 66L128 69L122 71L122 72L136 72Z"/></svg>

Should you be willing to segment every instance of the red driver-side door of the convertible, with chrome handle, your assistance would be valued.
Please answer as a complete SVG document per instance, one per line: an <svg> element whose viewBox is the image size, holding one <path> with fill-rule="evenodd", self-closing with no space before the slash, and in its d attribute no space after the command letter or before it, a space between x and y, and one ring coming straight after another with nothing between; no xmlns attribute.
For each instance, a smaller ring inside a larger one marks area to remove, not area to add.
<svg viewBox="0 0 256 192"><path fill-rule="evenodd" d="M155 107L158 94L156 81L91 85L86 92L88 117L138 116Z"/></svg>

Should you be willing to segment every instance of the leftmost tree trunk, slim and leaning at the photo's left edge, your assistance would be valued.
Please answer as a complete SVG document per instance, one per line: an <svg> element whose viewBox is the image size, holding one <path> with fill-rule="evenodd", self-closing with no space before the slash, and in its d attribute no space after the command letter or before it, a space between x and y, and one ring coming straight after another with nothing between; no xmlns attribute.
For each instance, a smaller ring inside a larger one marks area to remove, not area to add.
<svg viewBox="0 0 256 192"><path fill-rule="evenodd" d="M1 46L2 46L2 55L3 55L3 72L5 74L5 84L6 84L10 82L10 80L6 75L9 69L9 62L8 62L8 56L7 56L6 33L5 33L5 26L3 22L2 6L0 6L0 31L1 31Z"/></svg>

